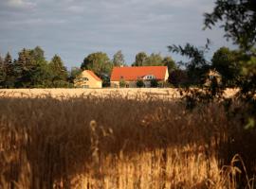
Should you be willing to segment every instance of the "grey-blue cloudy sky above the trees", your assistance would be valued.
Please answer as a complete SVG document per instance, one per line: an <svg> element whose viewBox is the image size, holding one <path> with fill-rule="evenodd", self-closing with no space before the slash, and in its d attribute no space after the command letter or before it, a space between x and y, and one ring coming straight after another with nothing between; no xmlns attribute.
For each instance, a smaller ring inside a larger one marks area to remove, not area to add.
<svg viewBox="0 0 256 189"><path fill-rule="evenodd" d="M127 64L141 51L178 61L168 45L203 46L209 38L210 59L219 47L233 47L221 28L203 30L213 7L214 0L0 0L0 54L17 58L39 45L46 60L57 54L68 69L99 51L112 59L121 50Z"/></svg>

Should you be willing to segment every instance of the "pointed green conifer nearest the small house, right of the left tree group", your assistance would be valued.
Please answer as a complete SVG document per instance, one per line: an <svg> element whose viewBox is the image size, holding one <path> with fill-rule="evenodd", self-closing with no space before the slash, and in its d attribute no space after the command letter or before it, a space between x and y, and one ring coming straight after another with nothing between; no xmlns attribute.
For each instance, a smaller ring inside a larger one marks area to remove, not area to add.
<svg viewBox="0 0 256 189"><path fill-rule="evenodd" d="M61 57L54 55L48 66L53 87L66 87L68 74Z"/></svg>

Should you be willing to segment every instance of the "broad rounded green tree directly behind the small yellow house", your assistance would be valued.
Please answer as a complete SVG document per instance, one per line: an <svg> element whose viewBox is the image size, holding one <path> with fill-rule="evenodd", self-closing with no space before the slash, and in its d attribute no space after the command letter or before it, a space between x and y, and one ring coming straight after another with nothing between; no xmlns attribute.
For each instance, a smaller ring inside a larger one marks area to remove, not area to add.
<svg viewBox="0 0 256 189"><path fill-rule="evenodd" d="M81 69L92 70L96 75L110 75L113 64L109 60L107 54L102 52L92 53L84 58Z"/></svg>

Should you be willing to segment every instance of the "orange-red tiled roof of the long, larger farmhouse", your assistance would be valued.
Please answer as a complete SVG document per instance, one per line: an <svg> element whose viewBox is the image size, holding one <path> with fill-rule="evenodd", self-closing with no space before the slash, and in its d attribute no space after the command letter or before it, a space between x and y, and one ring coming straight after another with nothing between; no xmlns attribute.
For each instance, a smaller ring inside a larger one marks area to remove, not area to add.
<svg viewBox="0 0 256 189"><path fill-rule="evenodd" d="M155 76L155 79L163 80L167 66L135 66L135 67L114 67L111 74L111 81L120 79L135 81L148 75Z"/></svg>

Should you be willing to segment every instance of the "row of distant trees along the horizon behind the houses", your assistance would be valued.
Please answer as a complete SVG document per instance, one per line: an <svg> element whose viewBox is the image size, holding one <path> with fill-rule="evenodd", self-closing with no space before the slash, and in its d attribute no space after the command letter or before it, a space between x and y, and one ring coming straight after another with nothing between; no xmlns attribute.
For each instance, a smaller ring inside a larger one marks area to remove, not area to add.
<svg viewBox="0 0 256 189"><path fill-rule="evenodd" d="M221 47L211 60L206 60L205 53L210 44L204 48L197 48L188 43L184 47L172 45L169 50L180 53L189 58L188 62L175 62L172 57L163 57L160 53L147 55L138 52L135 62L131 66L159 66L168 67L169 83L177 86L199 85L204 82L204 76L210 69L215 69L223 77L223 83L233 86L240 77L242 66L239 51ZM128 66L119 50L109 59L106 53L95 52L84 58L81 67L72 68L68 72L60 56L47 61L45 52L40 46L34 49L22 49L18 59L13 60L7 53L0 57L0 87L1 88L70 88L73 87L75 77L82 70L92 70L101 77L103 86L110 85L110 75L114 66Z"/></svg>

